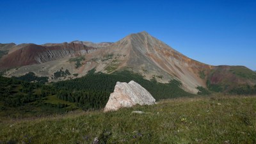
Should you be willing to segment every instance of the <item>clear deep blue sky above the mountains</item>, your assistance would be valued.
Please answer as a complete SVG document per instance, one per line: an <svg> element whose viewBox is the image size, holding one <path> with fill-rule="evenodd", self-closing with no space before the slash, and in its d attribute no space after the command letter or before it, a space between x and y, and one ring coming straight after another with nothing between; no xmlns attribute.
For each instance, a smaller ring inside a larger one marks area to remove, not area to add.
<svg viewBox="0 0 256 144"><path fill-rule="evenodd" d="M256 1L0 1L0 43L116 42L147 31L189 58L256 70Z"/></svg>

